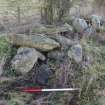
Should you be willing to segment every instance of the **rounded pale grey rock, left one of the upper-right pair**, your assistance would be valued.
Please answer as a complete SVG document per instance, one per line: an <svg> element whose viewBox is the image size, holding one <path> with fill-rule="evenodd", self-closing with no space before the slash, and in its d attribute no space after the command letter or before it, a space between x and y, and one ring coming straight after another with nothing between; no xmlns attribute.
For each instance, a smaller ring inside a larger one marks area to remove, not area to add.
<svg viewBox="0 0 105 105"><path fill-rule="evenodd" d="M86 23L86 21L81 18L75 18L75 20L73 21L73 26L77 32L81 33L85 32L85 30L88 28L88 24Z"/></svg>

